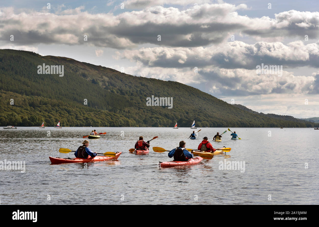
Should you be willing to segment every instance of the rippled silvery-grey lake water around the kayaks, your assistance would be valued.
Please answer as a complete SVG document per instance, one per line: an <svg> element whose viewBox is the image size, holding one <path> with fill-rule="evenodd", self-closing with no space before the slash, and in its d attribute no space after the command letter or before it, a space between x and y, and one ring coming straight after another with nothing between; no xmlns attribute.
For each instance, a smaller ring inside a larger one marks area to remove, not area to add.
<svg viewBox="0 0 319 227"><path fill-rule="evenodd" d="M87 168L83 163L51 165L49 156L60 156L59 148L76 150L82 136L93 129L107 134L90 140L89 148L98 153L122 151L118 160L88 163ZM213 142L216 132L227 128L199 129L197 140L187 139L190 128L0 129L0 161L26 162L24 173L0 170L1 205L319 204L319 130L231 128L241 140L231 140L227 131L222 142ZM151 141L148 155L128 151L140 135L145 141L159 136ZM153 146L171 150L185 140L186 148L194 149L204 136L214 148L232 150L194 166L158 168L159 161L172 159L167 152L153 152ZM224 160L245 162L245 171L220 170Z"/></svg>

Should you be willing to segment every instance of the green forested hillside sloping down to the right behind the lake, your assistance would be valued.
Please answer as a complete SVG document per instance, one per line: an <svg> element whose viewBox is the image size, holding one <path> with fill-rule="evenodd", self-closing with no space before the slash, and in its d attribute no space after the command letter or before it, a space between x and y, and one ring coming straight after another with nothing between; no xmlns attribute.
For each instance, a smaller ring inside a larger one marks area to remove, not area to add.
<svg viewBox="0 0 319 227"><path fill-rule="evenodd" d="M38 74L37 66L43 64L64 65L63 77ZM195 120L196 127L319 126L259 114L182 83L22 50L0 50L0 91L1 125L40 126L44 121L54 126L61 121L62 126L173 127L177 122L190 127ZM147 106L152 95L173 97L173 108Z"/></svg>

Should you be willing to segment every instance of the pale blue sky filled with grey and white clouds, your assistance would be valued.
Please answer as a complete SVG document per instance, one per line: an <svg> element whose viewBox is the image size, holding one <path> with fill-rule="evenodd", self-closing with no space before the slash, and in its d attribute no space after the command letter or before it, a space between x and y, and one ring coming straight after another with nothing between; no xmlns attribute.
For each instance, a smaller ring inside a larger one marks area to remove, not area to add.
<svg viewBox="0 0 319 227"><path fill-rule="evenodd" d="M0 48L174 80L258 112L319 117L316 1L48 2L0 1ZM282 70L257 72L262 64Z"/></svg>

